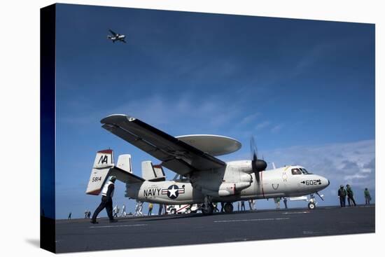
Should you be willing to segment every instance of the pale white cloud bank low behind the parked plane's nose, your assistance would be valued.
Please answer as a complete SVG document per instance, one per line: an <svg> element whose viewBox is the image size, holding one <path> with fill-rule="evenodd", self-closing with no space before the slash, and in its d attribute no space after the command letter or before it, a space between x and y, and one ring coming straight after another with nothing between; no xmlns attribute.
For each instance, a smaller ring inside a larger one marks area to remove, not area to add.
<svg viewBox="0 0 385 257"><path fill-rule="evenodd" d="M375 182L374 140L323 146L293 146L265 153L278 165L302 165L330 180L330 188L349 183L356 189L372 188ZM331 192L331 191L330 191Z"/></svg>

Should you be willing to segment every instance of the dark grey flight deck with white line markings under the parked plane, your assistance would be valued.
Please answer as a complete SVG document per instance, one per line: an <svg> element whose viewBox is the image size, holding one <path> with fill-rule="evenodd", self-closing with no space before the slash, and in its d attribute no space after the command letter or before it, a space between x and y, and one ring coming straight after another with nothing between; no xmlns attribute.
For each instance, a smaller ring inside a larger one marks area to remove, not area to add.
<svg viewBox="0 0 385 257"><path fill-rule="evenodd" d="M375 206L56 221L58 253L375 232Z"/></svg>

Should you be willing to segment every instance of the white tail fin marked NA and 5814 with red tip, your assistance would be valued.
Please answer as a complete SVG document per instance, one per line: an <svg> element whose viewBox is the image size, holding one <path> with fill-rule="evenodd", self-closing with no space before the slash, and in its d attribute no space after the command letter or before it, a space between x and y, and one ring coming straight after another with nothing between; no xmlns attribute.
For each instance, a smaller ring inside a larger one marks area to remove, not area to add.
<svg viewBox="0 0 385 257"><path fill-rule="evenodd" d="M87 190L85 190L87 195L99 195L113 166L113 151L111 149L97 152Z"/></svg>

